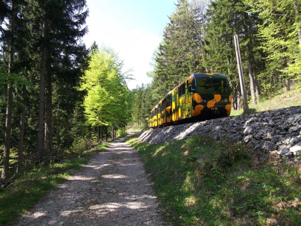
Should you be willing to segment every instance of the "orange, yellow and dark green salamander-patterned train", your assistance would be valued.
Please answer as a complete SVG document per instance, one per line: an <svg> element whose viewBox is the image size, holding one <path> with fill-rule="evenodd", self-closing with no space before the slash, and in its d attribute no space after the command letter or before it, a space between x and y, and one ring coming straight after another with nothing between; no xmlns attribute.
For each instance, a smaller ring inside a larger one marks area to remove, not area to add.
<svg viewBox="0 0 301 226"><path fill-rule="evenodd" d="M227 117L231 113L231 92L225 74L192 74L154 106L150 127Z"/></svg>

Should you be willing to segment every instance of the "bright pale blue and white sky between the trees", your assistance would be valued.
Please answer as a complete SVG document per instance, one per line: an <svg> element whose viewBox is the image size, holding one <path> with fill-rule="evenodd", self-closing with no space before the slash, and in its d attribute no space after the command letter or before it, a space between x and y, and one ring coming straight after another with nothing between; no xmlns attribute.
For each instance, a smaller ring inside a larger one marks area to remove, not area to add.
<svg viewBox="0 0 301 226"><path fill-rule="evenodd" d="M123 60L123 71L135 80L129 89L151 82L147 71L154 51L162 41L163 30L175 10L177 0L87 0L88 34L83 37L87 48L94 41L98 47L111 47Z"/></svg>

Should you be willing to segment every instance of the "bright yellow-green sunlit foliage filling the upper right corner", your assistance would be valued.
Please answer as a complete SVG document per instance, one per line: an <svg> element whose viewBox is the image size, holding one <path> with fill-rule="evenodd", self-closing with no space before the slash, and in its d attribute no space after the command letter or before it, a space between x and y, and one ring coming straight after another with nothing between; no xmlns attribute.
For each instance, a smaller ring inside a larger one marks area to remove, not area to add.
<svg viewBox="0 0 301 226"><path fill-rule="evenodd" d="M296 0L253 1L252 11L259 14L263 24L258 25L259 37L265 43L261 46L267 54L267 69L279 71L288 79L300 84L301 69L301 20L300 3ZM272 66L269 66L272 65Z"/></svg>

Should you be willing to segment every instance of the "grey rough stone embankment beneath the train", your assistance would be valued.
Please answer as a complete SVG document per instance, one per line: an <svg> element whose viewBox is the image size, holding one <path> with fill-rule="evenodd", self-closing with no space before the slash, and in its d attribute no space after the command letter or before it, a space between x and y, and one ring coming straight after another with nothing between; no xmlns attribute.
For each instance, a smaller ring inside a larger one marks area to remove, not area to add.
<svg viewBox="0 0 301 226"><path fill-rule="evenodd" d="M261 150L262 154L275 152L298 162L301 154L301 106L157 128L141 132L138 136L143 142L166 143L204 133L211 133L216 141L242 141L253 149Z"/></svg>

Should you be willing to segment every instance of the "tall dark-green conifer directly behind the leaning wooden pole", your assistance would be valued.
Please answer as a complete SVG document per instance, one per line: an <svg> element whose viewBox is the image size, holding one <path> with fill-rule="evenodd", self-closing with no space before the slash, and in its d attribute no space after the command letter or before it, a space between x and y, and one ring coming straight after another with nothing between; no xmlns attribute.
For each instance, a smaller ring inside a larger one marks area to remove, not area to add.
<svg viewBox="0 0 301 226"><path fill-rule="evenodd" d="M246 62L244 72L249 72L249 86L252 103L259 101L259 88L256 71L260 60L256 52L255 39L258 23L256 14L247 14L250 9L242 0L217 0L211 2L208 10L209 24L206 30L206 68L211 73L224 73L230 78L233 87L233 108L240 107L240 85L237 76L237 64L235 58L234 35L240 35L240 44L243 61ZM257 64L255 64L257 57ZM247 79L245 79L248 81Z"/></svg>

